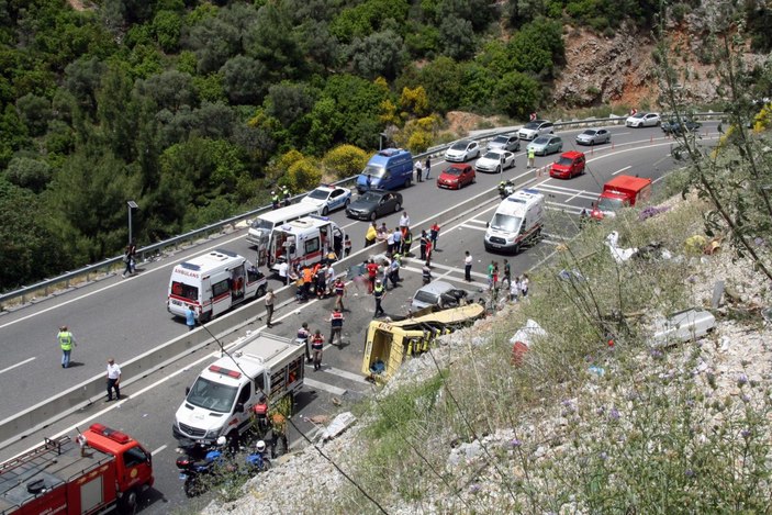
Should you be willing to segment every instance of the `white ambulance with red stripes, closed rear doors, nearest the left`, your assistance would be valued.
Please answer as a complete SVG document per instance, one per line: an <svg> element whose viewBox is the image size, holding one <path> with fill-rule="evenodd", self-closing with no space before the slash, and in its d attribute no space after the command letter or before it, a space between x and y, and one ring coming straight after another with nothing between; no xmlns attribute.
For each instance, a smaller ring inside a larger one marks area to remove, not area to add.
<svg viewBox="0 0 772 515"><path fill-rule="evenodd" d="M248 259L217 248L171 270L166 302L169 313L186 316L192 305L197 320L206 322L248 299L266 294L268 279Z"/></svg>

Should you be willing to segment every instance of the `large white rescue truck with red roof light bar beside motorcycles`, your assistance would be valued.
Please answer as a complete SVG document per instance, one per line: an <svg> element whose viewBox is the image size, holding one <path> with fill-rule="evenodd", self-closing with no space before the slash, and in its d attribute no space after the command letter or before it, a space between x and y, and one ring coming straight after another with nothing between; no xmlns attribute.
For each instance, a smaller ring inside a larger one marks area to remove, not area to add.
<svg viewBox="0 0 772 515"><path fill-rule="evenodd" d="M172 433L180 440L213 444L235 437L251 424L251 408L262 395L269 405L303 388L305 344L255 332L236 350L201 371L177 410Z"/></svg>

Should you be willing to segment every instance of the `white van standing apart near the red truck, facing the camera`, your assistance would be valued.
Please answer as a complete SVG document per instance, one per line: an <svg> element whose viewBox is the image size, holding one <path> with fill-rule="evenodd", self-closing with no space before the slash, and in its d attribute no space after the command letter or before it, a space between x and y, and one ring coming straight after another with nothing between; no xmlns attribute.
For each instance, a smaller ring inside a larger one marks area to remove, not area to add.
<svg viewBox="0 0 772 515"><path fill-rule="evenodd" d="M485 250L512 251L541 234L545 195L535 189L518 190L504 199L485 231Z"/></svg>

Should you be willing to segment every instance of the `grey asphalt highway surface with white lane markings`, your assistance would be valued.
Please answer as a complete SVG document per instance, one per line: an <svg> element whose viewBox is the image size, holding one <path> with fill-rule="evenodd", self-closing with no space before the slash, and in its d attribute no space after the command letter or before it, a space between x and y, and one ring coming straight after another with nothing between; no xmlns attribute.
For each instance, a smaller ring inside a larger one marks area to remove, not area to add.
<svg viewBox="0 0 772 515"><path fill-rule="evenodd" d="M715 126L706 125L715 135ZM703 128L705 130L705 128ZM614 145L593 148L580 147L588 154L588 172L571 180L550 179L547 175L536 177L534 170L526 170L525 157L518 153L517 166L506 170L504 178L518 178L532 188L548 195L548 221L546 237L533 248L516 257L507 257L513 264L513 272L523 272L549 256L557 244L571 237L577 231L577 213L590 205L597 197L602 184L614 175L629 173L658 179L672 169L675 163L669 152L672 141L662 137L659 128L630 130L613 127ZM564 150L573 147L577 131L559 133L566 141ZM523 147L524 149L525 147ZM537 157L537 167L555 160L556 156ZM445 166L436 161L433 178ZM404 209L412 219L413 227L423 228L438 221L443 226L439 237L439 251L434 255L435 278L462 281L463 251L474 257L474 281L472 288L484 288L484 266L491 259L500 262L506 256L493 256L484 251L482 236L499 197L495 186L501 180L497 175L479 173L475 184L460 191L446 191L436 188L434 181L414 184L403 190ZM479 195L477 206L469 212L458 213L454 209L459 199ZM437 214L444 213L444 214ZM366 222L346 219L343 212L332 214L339 225L351 235L354 250L361 249ZM393 227L399 216L381 219ZM379 224L381 222L379 220ZM0 398L0 418L12 416L16 411L45 400L86 379L102 374L108 356L114 356L119 363L163 345L170 338L184 333L182 321L172 318L165 309L167 281L171 267L187 257L210 248L227 248L246 256L254 256L244 239L244 231L222 235L216 239L202 242L161 261L141 267L136 277L122 280L108 278L92 284L64 292L33 305L4 313L0 316L0 387L4 392L19 392ZM361 254L362 258L367 254ZM403 282L384 300L388 313L400 314L406 311L410 298L421 286L421 265L406 260L402 272ZM272 279L273 287L280 288ZM538 286L534 286L538 288ZM313 415L333 415L370 392L369 383L360 374L363 334L372 317L373 303L366 292L349 287L347 299L344 347L331 347L325 351L322 371L309 368L309 381L304 392L298 396L297 413L293 418L300 429L311 435L317 427L306 418ZM277 311L277 324L270 332L282 336L293 336L301 322L307 321L312 328L327 332L327 318L333 301L313 301L298 305L291 303ZM248 304L244 310L254 313L262 311L262 302ZM68 324L78 339L74 351L77 367L64 370L59 366L59 350L55 334L60 324ZM265 329L257 322L248 329ZM199 329L200 331L200 329ZM243 334L243 332L239 332ZM0 451L0 458L13 456L33 444L70 426L86 426L93 419L121 428L145 443L153 450L157 470L156 492L148 497L149 505L143 513L168 513L176 507L188 506L177 480L174 466L176 443L171 437L174 413L183 396L184 388L192 383L198 371L219 356L216 346L210 345L193 355L180 358L167 367L163 373L153 374L124 388L128 395L125 401L111 404L93 404L81 412L52 424L43 432L30 435L24 440ZM299 435L291 436L293 445L301 444Z"/></svg>

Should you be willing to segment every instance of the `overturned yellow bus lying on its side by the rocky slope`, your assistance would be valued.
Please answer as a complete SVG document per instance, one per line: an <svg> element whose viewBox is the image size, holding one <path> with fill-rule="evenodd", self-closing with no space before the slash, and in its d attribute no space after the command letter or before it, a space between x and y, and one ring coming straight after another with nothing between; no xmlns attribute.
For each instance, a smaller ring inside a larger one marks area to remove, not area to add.
<svg viewBox="0 0 772 515"><path fill-rule="evenodd" d="M415 316L401 321L370 322L362 373L373 381L387 382L405 357L427 351L439 336L471 325L484 312L482 305L472 303L434 313L422 310Z"/></svg>

